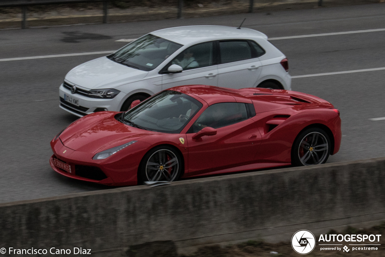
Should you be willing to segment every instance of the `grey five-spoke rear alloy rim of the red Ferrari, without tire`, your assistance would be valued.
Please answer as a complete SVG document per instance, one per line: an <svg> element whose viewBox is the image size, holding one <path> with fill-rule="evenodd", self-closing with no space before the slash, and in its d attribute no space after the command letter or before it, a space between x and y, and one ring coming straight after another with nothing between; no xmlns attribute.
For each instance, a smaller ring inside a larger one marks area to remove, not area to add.
<svg viewBox="0 0 385 257"><path fill-rule="evenodd" d="M329 155L329 143L320 132L306 134L298 147L298 158L304 166L323 163Z"/></svg>

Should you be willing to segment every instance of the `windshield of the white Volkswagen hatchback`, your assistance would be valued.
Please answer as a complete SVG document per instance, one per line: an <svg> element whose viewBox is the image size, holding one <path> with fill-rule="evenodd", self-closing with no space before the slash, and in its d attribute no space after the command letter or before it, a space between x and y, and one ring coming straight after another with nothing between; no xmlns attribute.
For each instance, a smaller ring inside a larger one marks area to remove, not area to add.
<svg viewBox="0 0 385 257"><path fill-rule="evenodd" d="M152 71L181 46L167 39L147 34L107 57L135 69Z"/></svg>

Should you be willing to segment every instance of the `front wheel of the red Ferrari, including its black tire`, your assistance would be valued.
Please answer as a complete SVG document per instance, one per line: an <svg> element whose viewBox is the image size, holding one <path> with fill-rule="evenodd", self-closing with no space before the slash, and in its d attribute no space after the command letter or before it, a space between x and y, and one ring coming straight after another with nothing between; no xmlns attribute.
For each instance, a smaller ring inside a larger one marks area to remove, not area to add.
<svg viewBox="0 0 385 257"><path fill-rule="evenodd" d="M170 146L154 147L144 155L139 165L138 185L144 181L176 181L181 176L182 168L182 158L176 149Z"/></svg>

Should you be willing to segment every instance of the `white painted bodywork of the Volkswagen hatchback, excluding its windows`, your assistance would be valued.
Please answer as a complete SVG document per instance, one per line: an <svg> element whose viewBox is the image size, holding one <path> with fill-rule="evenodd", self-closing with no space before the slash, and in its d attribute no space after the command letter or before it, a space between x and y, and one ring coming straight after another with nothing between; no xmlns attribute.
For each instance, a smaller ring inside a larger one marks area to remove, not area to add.
<svg viewBox="0 0 385 257"><path fill-rule="evenodd" d="M256 87L266 80L281 83L284 89L291 90L291 77L280 64L285 55L268 37L256 30L226 26L186 26L162 29L150 34L182 44L182 47L167 57L152 71L142 71L114 62L107 57L100 57L75 67L65 76L64 82L86 91L92 89L114 88L121 92L112 99L90 98L84 95L71 94L63 84L59 87L59 95L64 94L79 99L79 106L70 106L60 100L60 108L79 117L92 113L96 108L109 111L120 111L124 102L134 94L153 95L164 89L187 84L205 84L229 88ZM266 53L258 58L216 64L209 67L189 69L180 73L160 74L160 71L178 54L188 47L209 41L226 39L254 40ZM126 47L126 46L125 46ZM252 66L258 67L256 69ZM80 111L79 109L87 109Z"/></svg>

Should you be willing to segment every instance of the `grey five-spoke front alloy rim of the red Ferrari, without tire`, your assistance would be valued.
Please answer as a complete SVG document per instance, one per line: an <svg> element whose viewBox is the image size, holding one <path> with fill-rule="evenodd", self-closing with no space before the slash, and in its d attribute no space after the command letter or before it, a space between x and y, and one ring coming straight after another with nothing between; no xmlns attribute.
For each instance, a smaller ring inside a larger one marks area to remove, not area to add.
<svg viewBox="0 0 385 257"><path fill-rule="evenodd" d="M147 181L174 181L179 175L179 158L169 149L152 153L146 162Z"/></svg>

